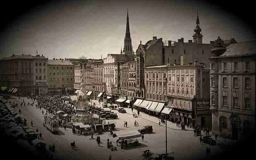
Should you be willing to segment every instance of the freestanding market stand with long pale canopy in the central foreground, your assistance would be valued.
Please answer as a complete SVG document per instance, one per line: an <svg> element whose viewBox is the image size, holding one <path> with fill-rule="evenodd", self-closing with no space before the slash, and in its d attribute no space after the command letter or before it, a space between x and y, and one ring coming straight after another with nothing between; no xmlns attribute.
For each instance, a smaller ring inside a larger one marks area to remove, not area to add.
<svg viewBox="0 0 256 160"><path fill-rule="evenodd" d="M121 149L131 148L134 146L139 146L140 142L137 138L141 137L140 132L133 131L125 134L118 135L118 143Z"/></svg>

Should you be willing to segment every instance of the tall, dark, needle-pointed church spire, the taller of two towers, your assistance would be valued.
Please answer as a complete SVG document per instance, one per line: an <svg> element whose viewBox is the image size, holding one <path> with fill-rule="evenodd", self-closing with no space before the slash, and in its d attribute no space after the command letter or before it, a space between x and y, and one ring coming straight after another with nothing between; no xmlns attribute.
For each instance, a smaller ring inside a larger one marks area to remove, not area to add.
<svg viewBox="0 0 256 160"><path fill-rule="evenodd" d="M134 52L132 50L132 39L131 39L130 26L129 26L128 9L127 9L126 32L125 32L125 38L124 38L123 53L126 54L131 60L134 60ZM122 54L122 52L121 52L121 54Z"/></svg>

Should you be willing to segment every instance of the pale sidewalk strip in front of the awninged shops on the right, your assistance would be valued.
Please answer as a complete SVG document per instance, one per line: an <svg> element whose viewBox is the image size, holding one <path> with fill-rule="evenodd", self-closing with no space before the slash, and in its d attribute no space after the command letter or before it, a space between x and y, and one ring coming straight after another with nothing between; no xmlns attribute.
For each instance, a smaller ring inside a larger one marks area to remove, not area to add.
<svg viewBox="0 0 256 160"><path fill-rule="evenodd" d="M97 105L102 105L102 102L99 103L99 100L92 100L92 102L94 102L95 104ZM113 104L114 106L117 104ZM137 109L133 109L133 112L132 112L132 109L131 108L124 108L126 110L126 113L132 115L133 113L137 113ZM144 112L140 112L140 116L138 118L142 118L142 119L145 119L147 121L150 121L152 123L155 123L155 124L159 124L159 119L155 116L149 116L148 114L144 113ZM162 124L162 126L165 126L165 124ZM170 128L170 129L173 129L173 130L181 130L181 131L194 131L193 128L187 128L187 126L185 127L185 130L182 130L181 127L177 127L176 126L176 123L172 123L170 121L167 120L167 127Z"/></svg>

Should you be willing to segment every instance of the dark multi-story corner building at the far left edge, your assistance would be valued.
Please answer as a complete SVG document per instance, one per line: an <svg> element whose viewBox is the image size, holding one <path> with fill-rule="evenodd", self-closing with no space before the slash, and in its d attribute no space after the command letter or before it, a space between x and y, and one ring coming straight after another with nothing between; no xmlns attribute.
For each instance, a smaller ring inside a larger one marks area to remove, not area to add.
<svg viewBox="0 0 256 160"><path fill-rule="evenodd" d="M36 63L41 66L36 66ZM47 69L44 73L44 63L47 64L47 58L42 56L32 56L30 54L14 55L0 60L1 63L1 84L9 88L16 88L12 90L15 94L30 95L31 93L47 92L47 81L36 82L36 76L44 80L44 75L47 77ZM36 68L38 73L36 73ZM41 69L41 73L39 72ZM42 81L41 80L41 81ZM40 90L39 90L40 88Z"/></svg>

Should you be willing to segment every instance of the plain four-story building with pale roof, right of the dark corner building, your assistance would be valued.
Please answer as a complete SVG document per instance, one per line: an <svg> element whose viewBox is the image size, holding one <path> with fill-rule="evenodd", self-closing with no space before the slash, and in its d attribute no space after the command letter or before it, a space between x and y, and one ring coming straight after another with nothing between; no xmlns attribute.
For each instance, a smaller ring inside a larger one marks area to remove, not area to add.
<svg viewBox="0 0 256 160"><path fill-rule="evenodd" d="M48 92L74 92L74 65L69 60L48 60Z"/></svg>

